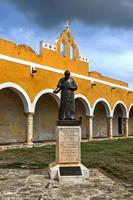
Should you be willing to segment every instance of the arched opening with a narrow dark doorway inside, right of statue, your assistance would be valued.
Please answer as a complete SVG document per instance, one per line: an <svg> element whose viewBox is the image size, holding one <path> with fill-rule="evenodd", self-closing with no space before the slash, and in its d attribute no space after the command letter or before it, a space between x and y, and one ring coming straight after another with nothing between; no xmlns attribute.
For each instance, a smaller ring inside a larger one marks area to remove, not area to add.
<svg viewBox="0 0 133 200"><path fill-rule="evenodd" d="M116 103L113 109L113 136L124 135L124 118L127 117L127 110L123 103Z"/></svg>

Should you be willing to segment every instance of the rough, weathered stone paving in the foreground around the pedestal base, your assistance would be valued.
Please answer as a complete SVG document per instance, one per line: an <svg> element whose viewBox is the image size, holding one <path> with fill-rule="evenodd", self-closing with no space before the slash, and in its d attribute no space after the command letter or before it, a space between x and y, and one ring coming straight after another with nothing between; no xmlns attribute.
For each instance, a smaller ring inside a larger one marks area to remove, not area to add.
<svg viewBox="0 0 133 200"><path fill-rule="evenodd" d="M84 184L49 180L48 169L0 169L0 200L133 200L133 193L97 169Z"/></svg>

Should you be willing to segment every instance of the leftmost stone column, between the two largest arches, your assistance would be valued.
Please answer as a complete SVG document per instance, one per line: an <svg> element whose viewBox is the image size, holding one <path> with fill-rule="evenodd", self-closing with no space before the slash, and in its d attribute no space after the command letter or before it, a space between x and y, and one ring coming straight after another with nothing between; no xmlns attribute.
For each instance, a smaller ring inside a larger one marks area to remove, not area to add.
<svg viewBox="0 0 133 200"><path fill-rule="evenodd" d="M33 140L33 113L27 113L27 136L26 143L32 144Z"/></svg>

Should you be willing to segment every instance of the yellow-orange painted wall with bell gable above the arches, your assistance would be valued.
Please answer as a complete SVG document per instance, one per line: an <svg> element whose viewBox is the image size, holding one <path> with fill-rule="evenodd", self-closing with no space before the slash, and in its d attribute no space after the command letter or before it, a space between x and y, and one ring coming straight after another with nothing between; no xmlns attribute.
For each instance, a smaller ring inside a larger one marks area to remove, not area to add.
<svg viewBox="0 0 133 200"><path fill-rule="evenodd" d="M70 39L66 37L69 35ZM60 44L65 42L67 46L66 56L60 54ZM70 59L70 45L73 45L76 49L76 56L72 60ZM94 77L99 80L108 81L112 84L118 84L127 87L128 84L122 81L114 80L108 77L104 77L97 72L88 73L88 63L79 59L79 50L75 43L74 37L71 31L66 28L61 36L56 41L56 50L50 50L48 48L42 48L41 54L37 55L30 47L25 45L16 45L15 43L0 39L0 54L19 58L22 60L38 63L41 65L50 66L58 69L69 69L73 73L80 75ZM30 66L17 64L14 62L0 59L0 83L13 82L21 86L29 95L30 100L33 101L35 96L42 90L51 88L54 89L62 74L51 72L37 68L37 74L31 77ZM105 98L111 108L119 100L123 101L127 108L133 102L133 94L124 89L115 88L111 89L111 86L102 83L96 83L96 86L92 86L89 80L74 77L78 84L77 94L84 95L90 102L91 107L98 98Z"/></svg>

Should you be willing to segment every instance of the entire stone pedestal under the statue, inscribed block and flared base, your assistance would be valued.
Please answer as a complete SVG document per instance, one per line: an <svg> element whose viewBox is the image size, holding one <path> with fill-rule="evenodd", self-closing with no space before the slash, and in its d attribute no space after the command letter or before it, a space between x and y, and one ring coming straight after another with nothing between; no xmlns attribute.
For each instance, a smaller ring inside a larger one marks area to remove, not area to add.
<svg viewBox="0 0 133 200"><path fill-rule="evenodd" d="M80 126L56 127L56 161L49 165L51 179L83 182L89 170L81 164Z"/></svg>

